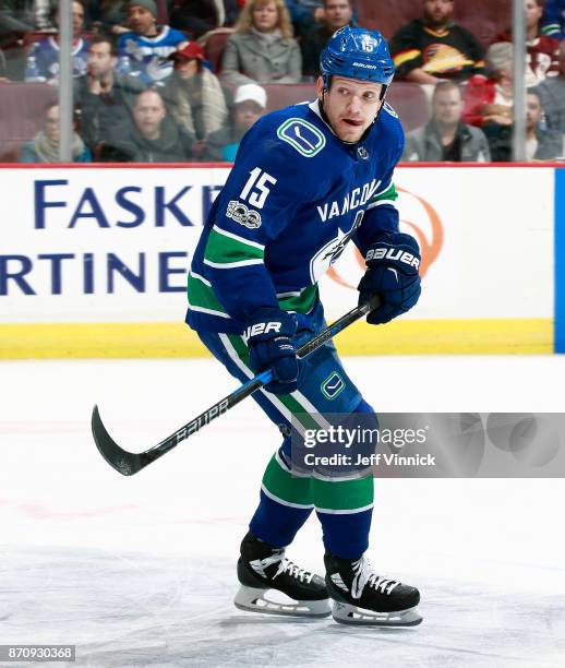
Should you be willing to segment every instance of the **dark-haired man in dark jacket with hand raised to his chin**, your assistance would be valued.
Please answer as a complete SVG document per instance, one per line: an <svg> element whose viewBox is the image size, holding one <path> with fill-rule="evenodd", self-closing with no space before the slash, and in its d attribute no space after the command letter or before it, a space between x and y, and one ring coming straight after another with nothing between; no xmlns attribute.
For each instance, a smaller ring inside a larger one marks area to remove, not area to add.
<svg viewBox="0 0 565 668"><path fill-rule="evenodd" d="M81 108L81 134L94 153L116 126L131 123L135 99L145 88L139 76L117 72L117 60L112 38L96 35L88 49L87 72L75 80L74 103Z"/></svg>

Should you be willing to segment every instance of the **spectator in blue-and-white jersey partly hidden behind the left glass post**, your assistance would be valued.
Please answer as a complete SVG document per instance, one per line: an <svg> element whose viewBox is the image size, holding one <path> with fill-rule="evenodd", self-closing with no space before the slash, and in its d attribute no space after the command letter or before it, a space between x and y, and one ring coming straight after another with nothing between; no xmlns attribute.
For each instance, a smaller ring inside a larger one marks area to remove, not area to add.
<svg viewBox="0 0 565 668"><path fill-rule="evenodd" d="M84 26L84 7L79 0L71 4L73 29L73 76L86 72L88 43L81 37ZM53 20L59 25L59 9L53 10ZM26 81L46 81L57 84L59 81L59 34L36 41L27 57Z"/></svg>

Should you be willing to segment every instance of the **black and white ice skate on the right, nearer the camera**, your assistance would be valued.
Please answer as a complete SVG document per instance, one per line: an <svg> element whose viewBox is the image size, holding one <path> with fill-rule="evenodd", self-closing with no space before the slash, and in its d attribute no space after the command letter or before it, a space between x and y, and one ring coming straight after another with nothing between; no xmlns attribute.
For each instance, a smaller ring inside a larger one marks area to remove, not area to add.
<svg viewBox="0 0 565 668"><path fill-rule="evenodd" d="M342 624L416 627L420 593L396 580L377 575L369 561L340 559L326 552L326 585L334 599L333 616Z"/></svg>

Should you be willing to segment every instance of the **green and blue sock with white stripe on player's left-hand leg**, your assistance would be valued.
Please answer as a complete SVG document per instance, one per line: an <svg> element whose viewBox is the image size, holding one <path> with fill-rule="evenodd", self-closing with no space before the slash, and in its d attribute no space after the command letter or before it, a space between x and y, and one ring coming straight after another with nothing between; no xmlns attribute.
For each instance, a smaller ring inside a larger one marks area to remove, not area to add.
<svg viewBox="0 0 565 668"><path fill-rule="evenodd" d="M310 478L291 475L277 452L265 469L261 501L249 527L261 540L286 547L313 508Z"/></svg>

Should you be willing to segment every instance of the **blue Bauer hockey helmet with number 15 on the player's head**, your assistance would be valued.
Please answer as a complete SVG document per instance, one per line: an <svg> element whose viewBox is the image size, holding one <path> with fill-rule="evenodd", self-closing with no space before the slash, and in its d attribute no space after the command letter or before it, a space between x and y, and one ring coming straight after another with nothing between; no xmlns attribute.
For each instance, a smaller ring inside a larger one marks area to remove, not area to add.
<svg viewBox="0 0 565 668"><path fill-rule="evenodd" d="M332 76L381 83L386 90L395 65L378 31L346 25L334 33L322 51L320 72L326 90Z"/></svg>

